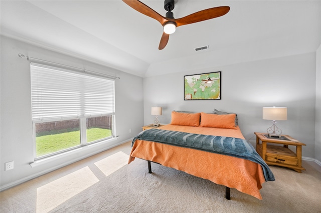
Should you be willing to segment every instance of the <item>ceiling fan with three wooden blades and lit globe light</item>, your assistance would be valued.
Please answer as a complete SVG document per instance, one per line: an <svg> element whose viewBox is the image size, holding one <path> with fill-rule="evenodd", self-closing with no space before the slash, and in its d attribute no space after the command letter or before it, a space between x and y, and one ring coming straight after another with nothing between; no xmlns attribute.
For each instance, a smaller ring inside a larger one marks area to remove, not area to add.
<svg viewBox="0 0 321 213"><path fill-rule="evenodd" d="M209 9L204 9L182 18L174 18L174 14L171 10L174 9L175 0L164 1L164 8L167 10L166 17L157 13L155 10L148 7L146 4L142 3L139 0L122 1L124 1L126 4L128 4L130 7L137 10L138 12L141 12L142 14L156 19L159 23L163 25L164 32L161 38L161 42L159 42L158 49L164 49L164 47L167 45L169 41L170 34L175 32L176 27L219 17L225 15L230 10L229 6L218 6Z"/></svg>

